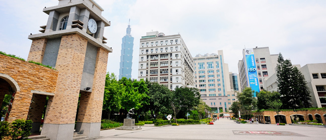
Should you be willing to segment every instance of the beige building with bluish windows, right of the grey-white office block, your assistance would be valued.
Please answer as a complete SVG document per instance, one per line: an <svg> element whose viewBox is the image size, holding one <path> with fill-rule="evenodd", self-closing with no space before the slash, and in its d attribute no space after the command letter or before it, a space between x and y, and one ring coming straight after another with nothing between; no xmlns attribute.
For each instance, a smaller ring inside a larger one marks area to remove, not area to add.
<svg viewBox="0 0 326 140"><path fill-rule="evenodd" d="M195 62L195 82L200 90L201 99L212 108L212 111L228 111L236 101L236 93L231 89L228 64L224 63L223 50L218 54L197 54ZM233 84L232 84L233 87Z"/></svg>

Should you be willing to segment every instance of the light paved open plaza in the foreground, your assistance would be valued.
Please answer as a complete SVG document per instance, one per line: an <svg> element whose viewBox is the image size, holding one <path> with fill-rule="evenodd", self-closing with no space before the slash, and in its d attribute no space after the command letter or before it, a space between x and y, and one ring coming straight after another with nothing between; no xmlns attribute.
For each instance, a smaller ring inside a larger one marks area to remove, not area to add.
<svg viewBox="0 0 326 140"><path fill-rule="evenodd" d="M142 130L102 130L97 139L326 139L326 127L238 124L220 118L214 125L143 126Z"/></svg>

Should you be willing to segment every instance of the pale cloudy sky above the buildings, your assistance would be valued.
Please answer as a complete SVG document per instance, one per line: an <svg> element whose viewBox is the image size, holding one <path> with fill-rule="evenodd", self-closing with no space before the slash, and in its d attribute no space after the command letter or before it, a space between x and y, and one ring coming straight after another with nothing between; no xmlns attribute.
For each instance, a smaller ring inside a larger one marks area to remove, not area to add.
<svg viewBox="0 0 326 140"><path fill-rule="evenodd" d="M266 47L293 64L326 62L326 0L95 0L103 17L109 53L107 71L119 75L122 37L130 18L134 37L132 78L137 78L139 40L146 32L180 33L192 56L223 50L238 73L243 48ZM0 51L27 59L30 33L41 33L43 8L58 0L0 0Z"/></svg>

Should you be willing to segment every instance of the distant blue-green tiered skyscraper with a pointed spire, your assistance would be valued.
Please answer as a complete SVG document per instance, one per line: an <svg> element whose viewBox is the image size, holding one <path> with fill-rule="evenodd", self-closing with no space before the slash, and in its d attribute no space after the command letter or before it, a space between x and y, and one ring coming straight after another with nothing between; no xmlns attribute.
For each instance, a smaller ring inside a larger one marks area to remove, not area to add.
<svg viewBox="0 0 326 140"><path fill-rule="evenodd" d="M127 27L127 34L122 38L119 79L122 77L131 78L132 52L134 37L130 35L130 19Z"/></svg>

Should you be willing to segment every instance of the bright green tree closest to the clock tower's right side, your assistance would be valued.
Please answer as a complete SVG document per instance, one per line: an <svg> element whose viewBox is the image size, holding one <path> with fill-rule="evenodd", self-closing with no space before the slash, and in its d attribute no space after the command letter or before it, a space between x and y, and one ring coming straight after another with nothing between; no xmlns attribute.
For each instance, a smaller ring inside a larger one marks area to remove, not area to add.
<svg viewBox="0 0 326 140"><path fill-rule="evenodd" d="M118 112L121 108L121 96L125 88L119 84L114 73L107 73L105 78L103 110L107 112L108 119L112 111Z"/></svg>

